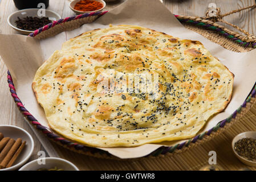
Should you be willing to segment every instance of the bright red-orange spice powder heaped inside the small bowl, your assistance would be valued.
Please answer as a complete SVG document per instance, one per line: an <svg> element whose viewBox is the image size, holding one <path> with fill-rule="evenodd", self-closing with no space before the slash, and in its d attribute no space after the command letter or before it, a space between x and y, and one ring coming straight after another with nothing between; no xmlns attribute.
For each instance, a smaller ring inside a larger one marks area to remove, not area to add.
<svg viewBox="0 0 256 182"><path fill-rule="evenodd" d="M82 0L75 4L74 9L78 11L96 11L103 7L101 2Z"/></svg>

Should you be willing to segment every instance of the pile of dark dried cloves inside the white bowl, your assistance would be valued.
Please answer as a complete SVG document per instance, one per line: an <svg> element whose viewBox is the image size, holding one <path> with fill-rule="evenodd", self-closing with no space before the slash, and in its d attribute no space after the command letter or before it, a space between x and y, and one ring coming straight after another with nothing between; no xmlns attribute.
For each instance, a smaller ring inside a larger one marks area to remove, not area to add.
<svg viewBox="0 0 256 182"><path fill-rule="evenodd" d="M48 17L32 17L27 16L25 18L19 18L15 21L17 28L22 30L36 30L44 25L51 23L51 20Z"/></svg>

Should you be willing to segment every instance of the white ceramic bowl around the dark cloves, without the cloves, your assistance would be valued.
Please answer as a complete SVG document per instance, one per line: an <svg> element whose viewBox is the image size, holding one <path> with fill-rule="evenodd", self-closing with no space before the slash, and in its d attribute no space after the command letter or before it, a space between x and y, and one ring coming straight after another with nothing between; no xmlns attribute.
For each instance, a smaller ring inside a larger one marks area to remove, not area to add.
<svg viewBox="0 0 256 182"><path fill-rule="evenodd" d="M24 10L15 11L13 14L10 14L8 16L7 22L12 28L17 30L19 33L29 35L31 32L34 32L34 31L22 30L20 28L17 28L15 21L18 20L18 17L22 19L22 18L25 18L26 16L33 16L33 17L36 16L38 18L42 18L38 16L38 11L42 11L42 10L24 9ZM55 13L54 11L51 11L51 10L46 10L46 17L48 17L52 21L55 21L61 18L58 13Z"/></svg>

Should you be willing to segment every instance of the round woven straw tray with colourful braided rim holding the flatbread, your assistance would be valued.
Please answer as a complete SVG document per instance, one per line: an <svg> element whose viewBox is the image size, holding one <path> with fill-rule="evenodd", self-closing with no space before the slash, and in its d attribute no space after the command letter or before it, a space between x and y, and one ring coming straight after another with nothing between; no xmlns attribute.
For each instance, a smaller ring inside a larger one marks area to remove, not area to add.
<svg viewBox="0 0 256 182"><path fill-rule="evenodd" d="M38 30L32 32L29 36L35 37L36 39L45 39L50 36L54 36L63 31L74 30L82 26L84 23L91 23L96 18L101 15L104 15L107 11L90 13L90 14L82 14L78 16L67 17L64 19L60 19L53 23L47 24L46 26L39 28ZM196 31L205 38L212 40L213 42L220 44L222 47L229 49L235 52L246 52L250 51L254 47L256 47L256 43L254 41L247 41L243 39L243 37L237 32L233 32L228 30L227 28L217 26L214 22L205 21L204 19L190 17L190 16L179 16L176 15L176 18L180 20L182 24L186 28L192 31ZM13 80L11 78L10 72L7 73L7 80L10 87L11 96L14 98L15 103L17 104L19 110L22 112L25 117L30 121L31 125L36 127L36 129L42 131L46 137L50 138L54 142L58 143L60 146L68 148L69 150L78 152L80 154L86 154L89 156L95 156L97 158L105 158L105 159L119 159L106 151L84 146L82 144L71 142L70 140L64 139L59 135L52 133L47 127L40 125L40 122L36 120L29 113L28 110L23 106L22 101L19 100L17 93L15 92L15 87ZM188 150L194 146L201 145L206 141L216 137L218 134L222 133L222 131L226 130L228 127L232 126L235 122L239 121L255 105L256 99L256 86L254 85L251 93L249 93L247 99L241 103L241 106L234 111L230 117L220 121L216 126L212 129L205 131L197 135L196 137L187 140L186 142L176 144L175 146L170 147L160 147L156 151L151 154L145 156L144 158L156 158L162 156L170 156L183 151ZM256 125L256 124L255 124Z"/></svg>

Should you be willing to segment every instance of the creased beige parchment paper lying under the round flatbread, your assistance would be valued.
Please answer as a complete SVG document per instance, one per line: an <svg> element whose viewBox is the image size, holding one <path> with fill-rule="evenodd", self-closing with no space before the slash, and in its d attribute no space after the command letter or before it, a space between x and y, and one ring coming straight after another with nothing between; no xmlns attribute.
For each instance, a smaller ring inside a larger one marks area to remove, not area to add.
<svg viewBox="0 0 256 182"><path fill-rule="evenodd" d="M202 131L214 127L222 119L229 117L243 101L245 101L256 80L256 50L237 53L228 51L218 44L210 42L208 39L189 31L182 26L174 15L166 9L159 0L128 0L101 16L93 23L84 24L82 27L72 31L62 32L52 38L36 40L24 35L0 35L0 55L7 68L14 78L15 88L18 97L23 105L38 121L48 126L47 119L42 107L36 102L36 98L31 88L31 83L36 70L48 59L56 50L60 49L63 42L73 38L83 32L94 30L95 28L106 28L109 24L133 24L165 32L181 39L199 40L204 46L218 57L231 72L234 73L233 96L225 111L215 115ZM7 83L6 83L7 84ZM162 142L157 144L144 144L139 147L117 147L101 148L119 158L139 158L148 155L162 145L172 146L179 141Z"/></svg>

